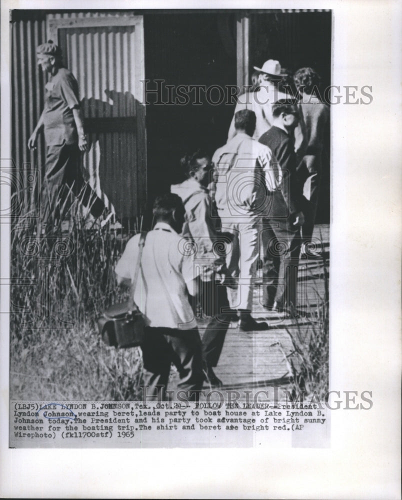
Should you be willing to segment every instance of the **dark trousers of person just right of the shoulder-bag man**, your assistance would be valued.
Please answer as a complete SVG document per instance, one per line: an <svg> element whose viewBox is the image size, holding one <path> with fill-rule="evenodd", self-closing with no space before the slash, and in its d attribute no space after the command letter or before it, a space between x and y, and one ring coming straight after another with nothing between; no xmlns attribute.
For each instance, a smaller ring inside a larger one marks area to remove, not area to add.
<svg viewBox="0 0 402 500"><path fill-rule="evenodd" d="M226 287L212 277L210 281L200 280L199 302L205 315L211 316L202 337L202 358L209 366L216 366L222 352L224 338L230 321L227 320Z"/></svg>

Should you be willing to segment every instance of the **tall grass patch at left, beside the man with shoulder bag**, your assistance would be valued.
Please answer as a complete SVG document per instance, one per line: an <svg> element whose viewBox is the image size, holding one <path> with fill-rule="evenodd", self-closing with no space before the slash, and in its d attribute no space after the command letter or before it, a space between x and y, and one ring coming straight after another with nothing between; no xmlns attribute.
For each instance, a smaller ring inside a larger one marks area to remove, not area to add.
<svg viewBox="0 0 402 500"><path fill-rule="evenodd" d="M77 203L68 227L52 213L41 234L34 212L12 221L10 396L13 399L135 400L138 348L102 344L96 317L127 291L114 266L131 234L100 228Z"/></svg>

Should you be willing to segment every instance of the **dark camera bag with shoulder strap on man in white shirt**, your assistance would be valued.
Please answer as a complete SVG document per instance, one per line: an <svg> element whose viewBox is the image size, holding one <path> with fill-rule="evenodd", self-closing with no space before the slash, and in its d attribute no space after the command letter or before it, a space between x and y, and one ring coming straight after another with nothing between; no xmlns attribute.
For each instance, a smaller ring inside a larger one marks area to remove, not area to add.
<svg viewBox="0 0 402 500"><path fill-rule="evenodd" d="M141 264L146 232L141 232L138 242L138 258L131 281L129 300L113 304L97 318L100 336L106 345L126 348L140 345L144 335L145 320L134 302L134 290Z"/></svg>

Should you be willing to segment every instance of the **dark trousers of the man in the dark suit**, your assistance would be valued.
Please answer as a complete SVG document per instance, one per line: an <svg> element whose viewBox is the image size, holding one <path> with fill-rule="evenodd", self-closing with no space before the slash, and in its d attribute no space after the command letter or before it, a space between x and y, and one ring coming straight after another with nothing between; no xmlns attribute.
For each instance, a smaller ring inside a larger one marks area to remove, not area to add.
<svg viewBox="0 0 402 500"><path fill-rule="evenodd" d="M300 229L289 219L264 219L263 304L292 308L297 305Z"/></svg>

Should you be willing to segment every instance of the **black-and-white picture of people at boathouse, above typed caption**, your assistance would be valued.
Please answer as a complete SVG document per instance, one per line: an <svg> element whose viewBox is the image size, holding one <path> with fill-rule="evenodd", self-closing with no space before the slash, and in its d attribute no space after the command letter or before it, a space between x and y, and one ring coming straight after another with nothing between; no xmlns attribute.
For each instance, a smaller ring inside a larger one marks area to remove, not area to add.
<svg viewBox="0 0 402 500"><path fill-rule="evenodd" d="M11 400L324 401L331 11L10 15Z"/></svg>

